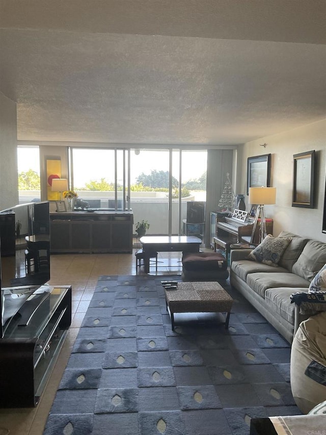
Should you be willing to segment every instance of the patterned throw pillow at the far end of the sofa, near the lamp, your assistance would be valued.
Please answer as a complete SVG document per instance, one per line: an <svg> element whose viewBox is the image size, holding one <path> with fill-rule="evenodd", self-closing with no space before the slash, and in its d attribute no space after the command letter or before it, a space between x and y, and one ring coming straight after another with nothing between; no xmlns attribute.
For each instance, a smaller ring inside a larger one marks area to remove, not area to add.
<svg viewBox="0 0 326 435"><path fill-rule="evenodd" d="M250 252L249 258L258 263L268 264L277 267L281 260L282 254L289 245L291 238L273 237L268 234L264 240L253 251Z"/></svg>

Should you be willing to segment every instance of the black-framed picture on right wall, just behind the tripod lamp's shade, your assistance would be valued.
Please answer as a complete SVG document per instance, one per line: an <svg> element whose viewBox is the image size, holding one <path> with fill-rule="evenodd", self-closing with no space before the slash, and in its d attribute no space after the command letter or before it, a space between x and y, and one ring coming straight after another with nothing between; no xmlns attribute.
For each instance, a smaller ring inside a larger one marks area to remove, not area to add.
<svg viewBox="0 0 326 435"><path fill-rule="evenodd" d="M270 187L270 154L248 157L247 195L250 187Z"/></svg>

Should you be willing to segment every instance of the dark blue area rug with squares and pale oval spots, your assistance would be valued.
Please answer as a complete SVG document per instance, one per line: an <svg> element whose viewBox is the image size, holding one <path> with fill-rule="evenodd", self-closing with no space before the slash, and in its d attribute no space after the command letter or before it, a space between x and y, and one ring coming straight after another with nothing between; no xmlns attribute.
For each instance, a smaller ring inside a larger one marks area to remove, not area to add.
<svg viewBox="0 0 326 435"><path fill-rule="evenodd" d="M180 275L166 279L180 280ZM164 276L101 276L44 435L246 435L300 415L290 346L227 282L221 313L166 311Z"/></svg>

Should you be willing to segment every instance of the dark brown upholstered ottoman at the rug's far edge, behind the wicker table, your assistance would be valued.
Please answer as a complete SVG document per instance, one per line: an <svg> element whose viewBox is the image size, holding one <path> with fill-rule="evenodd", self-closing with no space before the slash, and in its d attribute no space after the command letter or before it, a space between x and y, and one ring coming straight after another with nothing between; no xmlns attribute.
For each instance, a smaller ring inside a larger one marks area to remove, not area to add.
<svg viewBox="0 0 326 435"><path fill-rule="evenodd" d="M218 252L184 252L182 254L183 281L224 282L229 277L228 263Z"/></svg>

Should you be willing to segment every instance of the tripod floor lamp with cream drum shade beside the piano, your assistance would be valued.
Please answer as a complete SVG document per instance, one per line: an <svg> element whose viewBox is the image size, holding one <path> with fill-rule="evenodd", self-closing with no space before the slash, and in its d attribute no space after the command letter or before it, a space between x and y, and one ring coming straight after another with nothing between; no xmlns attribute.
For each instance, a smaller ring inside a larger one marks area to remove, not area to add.
<svg viewBox="0 0 326 435"><path fill-rule="evenodd" d="M267 204L269 205L269 204L276 203L276 187L250 187L249 203L258 205L250 243L251 244L254 243L259 215L260 215L260 229L259 229L258 243L261 243L264 240L264 238L267 236L264 206Z"/></svg>

